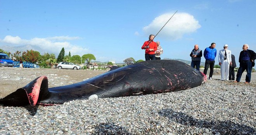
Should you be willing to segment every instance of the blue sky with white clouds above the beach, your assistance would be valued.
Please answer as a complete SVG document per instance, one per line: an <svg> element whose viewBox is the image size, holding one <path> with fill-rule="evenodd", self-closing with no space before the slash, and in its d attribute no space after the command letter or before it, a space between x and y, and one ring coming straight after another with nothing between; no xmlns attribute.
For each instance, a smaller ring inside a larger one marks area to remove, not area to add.
<svg viewBox="0 0 256 135"><path fill-rule="evenodd" d="M204 51L214 42L217 52L228 44L238 63L243 44L256 51L255 14L255 0L0 0L0 46L145 60L143 43L173 15L154 39L161 59L190 61L195 44Z"/></svg>

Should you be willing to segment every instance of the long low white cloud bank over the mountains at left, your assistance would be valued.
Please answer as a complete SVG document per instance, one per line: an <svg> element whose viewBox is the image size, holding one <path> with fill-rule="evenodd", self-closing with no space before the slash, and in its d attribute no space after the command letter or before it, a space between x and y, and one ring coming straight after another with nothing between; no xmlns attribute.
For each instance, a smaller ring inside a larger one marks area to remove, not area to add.
<svg viewBox="0 0 256 135"><path fill-rule="evenodd" d="M69 51L71 52L71 55L83 55L86 53L89 53L90 50L86 49L85 47L78 46L71 44L70 42L56 42L55 40L75 40L75 39L80 39L80 37L49 37L49 38L38 38L35 37L30 40L26 39L21 39L20 37L12 37L10 35L7 35L2 42L5 42L7 44L15 44L15 45L31 45L31 46L36 46L40 47L43 49L43 51L48 52L48 53L54 53L54 54L59 54L61 51L62 47L65 49L65 54L67 55Z"/></svg>

